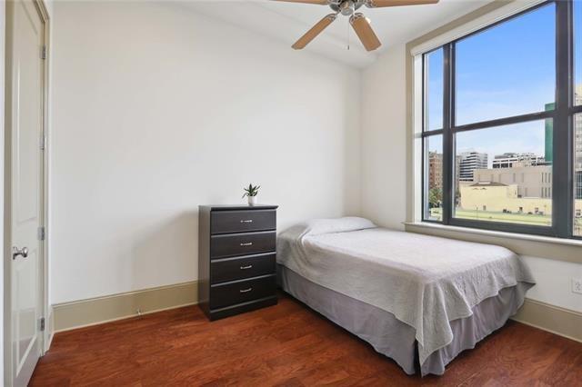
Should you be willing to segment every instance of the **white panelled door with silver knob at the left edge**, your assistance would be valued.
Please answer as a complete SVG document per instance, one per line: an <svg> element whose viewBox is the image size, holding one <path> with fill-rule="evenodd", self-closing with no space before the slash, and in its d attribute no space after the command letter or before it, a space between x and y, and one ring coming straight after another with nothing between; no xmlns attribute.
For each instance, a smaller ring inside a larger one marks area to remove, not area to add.
<svg viewBox="0 0 582 387"><path fill-rule="evenodd" d="M33 1L6 2L8 64L10 77L9 125L6 142L10 144L10 242L12 243L9 279L11 379L25 386L42 350L42 251L39 227L43 208L44 135L44 46L45 25ZM8 196L8 194L10 196ZM8 226L8 225L6 225Z"/></svg>

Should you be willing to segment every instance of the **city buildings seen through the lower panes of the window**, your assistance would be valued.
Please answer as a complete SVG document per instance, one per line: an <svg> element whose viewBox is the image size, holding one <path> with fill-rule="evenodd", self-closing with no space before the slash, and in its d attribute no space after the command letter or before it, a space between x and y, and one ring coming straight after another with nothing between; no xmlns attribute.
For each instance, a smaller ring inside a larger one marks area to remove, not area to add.
<svg viewBox="0 0 582 387"><path fill-rule="evenodd" d="M576 103L582 104L582 86ZM547 104L547 109L553 109ZM575 116L574 233L582 235L582 114ZM553 123L545 124L544 154L513 152L487 154L466 150L455 160L455 217L492 222L549 225L552 219ZM490 157L493 156L492 159ZM429 152L428 207L440 219L443 154Z"/></svg>

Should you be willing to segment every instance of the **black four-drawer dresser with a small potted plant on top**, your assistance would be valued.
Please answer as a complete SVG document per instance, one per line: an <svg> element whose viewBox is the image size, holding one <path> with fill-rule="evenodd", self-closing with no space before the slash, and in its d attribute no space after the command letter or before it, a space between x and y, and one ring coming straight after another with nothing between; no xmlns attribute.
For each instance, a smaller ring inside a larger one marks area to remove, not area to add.
<svg viewBox="0 0 582 387"><path fill-rule="evenodd" d="M198 301L211 321L276 304L276 208L198 207Z"/></svg>

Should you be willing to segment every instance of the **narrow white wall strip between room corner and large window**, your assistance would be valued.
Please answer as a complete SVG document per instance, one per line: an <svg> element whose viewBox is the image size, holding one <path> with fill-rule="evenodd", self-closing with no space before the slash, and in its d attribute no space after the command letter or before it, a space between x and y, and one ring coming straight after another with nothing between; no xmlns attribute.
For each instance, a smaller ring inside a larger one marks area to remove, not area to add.
<svg viewBox="0 0 582 387"><path fill-rule="evenodd" d="M406 219L405 46L362 74L362 215L394 229Z"/></svg>

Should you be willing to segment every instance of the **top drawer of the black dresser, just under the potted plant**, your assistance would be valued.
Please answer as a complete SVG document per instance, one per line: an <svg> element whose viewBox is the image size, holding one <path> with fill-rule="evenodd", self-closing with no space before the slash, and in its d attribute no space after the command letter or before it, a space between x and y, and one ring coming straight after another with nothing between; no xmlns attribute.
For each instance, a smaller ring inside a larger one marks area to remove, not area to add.
<svg viewBox="0 0 582 387"><path fill-rule="evenodd" d="M275 210L213 211L210 233L246 233L276 229Z"/></svg>

